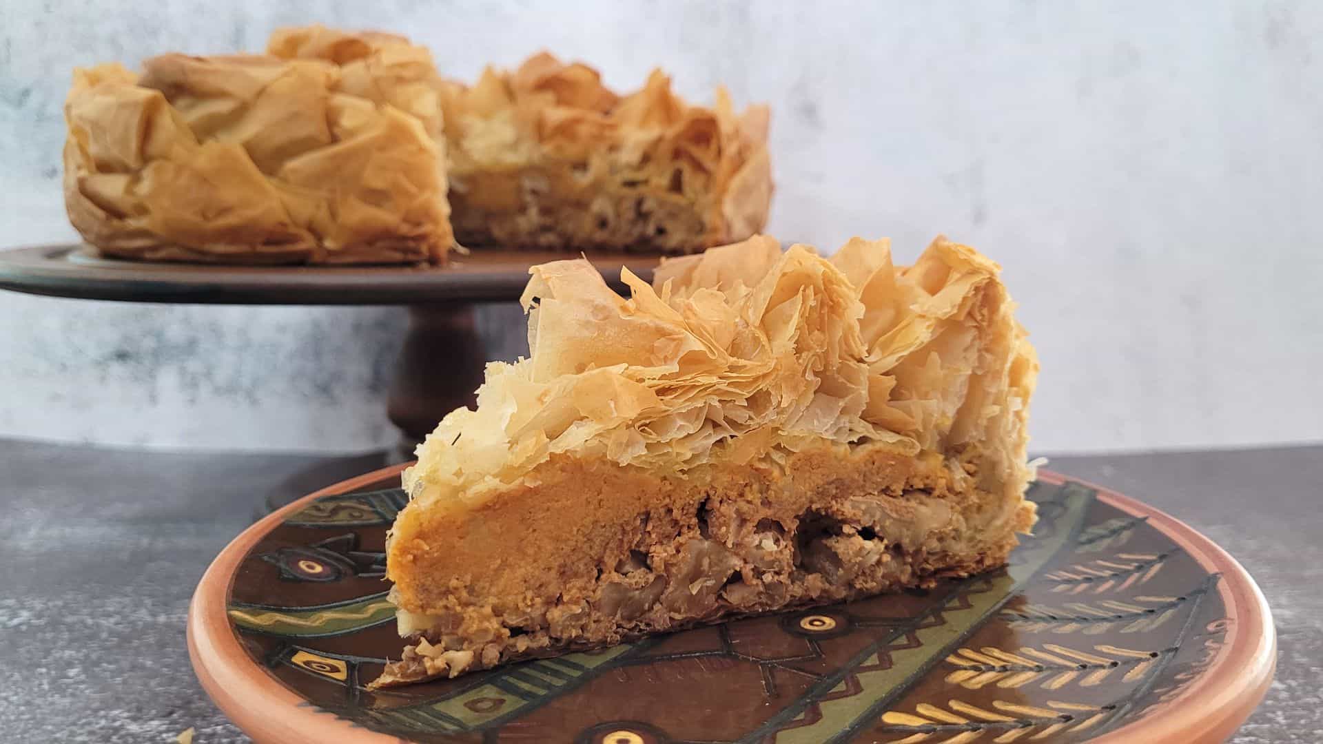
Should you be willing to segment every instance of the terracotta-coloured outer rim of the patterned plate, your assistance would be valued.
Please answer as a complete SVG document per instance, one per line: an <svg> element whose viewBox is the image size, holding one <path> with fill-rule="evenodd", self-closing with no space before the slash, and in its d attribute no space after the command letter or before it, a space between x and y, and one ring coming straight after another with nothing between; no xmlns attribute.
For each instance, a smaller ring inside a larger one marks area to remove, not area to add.
<svg viewBox="0 0 1323 744"><path fill-rule="evenodd" d="M398 474L411 463L392 465L315 491L251 524L216 556L202 575L188 610L188 655L202 690L254 741L344 741L396 744L396 736L368 731L319 712L253 663L230 628L226 604L239 563L286 516L310 502ZM1267 692L1277 666L1271 610L1254 579L1226 551L1170 514L1110 488L1048 470L1039 479L1072 481L1095 488L1098 499L1135 516L1175 540L1205 571L1221 573L1218 592L1226 608L1226 639L1208 669L1160 711L1091 741L1222 741L1249 718Z"/></svg>

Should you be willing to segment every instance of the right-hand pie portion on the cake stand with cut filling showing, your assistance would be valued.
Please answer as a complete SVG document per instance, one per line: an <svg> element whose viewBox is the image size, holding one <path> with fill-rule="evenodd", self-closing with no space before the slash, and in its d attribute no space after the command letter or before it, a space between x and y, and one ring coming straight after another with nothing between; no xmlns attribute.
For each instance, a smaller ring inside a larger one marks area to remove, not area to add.
<svg viewBox="0 0 1323 744"><path fill-rule="evenodd" d="M660 70L622 97L548 53L441 90L460 242L692 253L766 224L766 106L691 106Z"/></svg>

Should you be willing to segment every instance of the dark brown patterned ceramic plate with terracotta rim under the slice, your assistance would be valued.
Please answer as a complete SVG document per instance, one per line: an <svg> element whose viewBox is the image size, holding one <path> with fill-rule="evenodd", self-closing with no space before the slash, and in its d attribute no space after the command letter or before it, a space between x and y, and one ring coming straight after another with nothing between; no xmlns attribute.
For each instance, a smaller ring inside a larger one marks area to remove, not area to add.
<svg viewBox="0 0 1323 744"><path fill-rule="evenodd" d="M1240 564L1041 473L1035 535L994 573L369 692L401 649L382 581L401 467L267 516L202 577L193 667L258 741L1220 741L1273 675Z"/></svg>

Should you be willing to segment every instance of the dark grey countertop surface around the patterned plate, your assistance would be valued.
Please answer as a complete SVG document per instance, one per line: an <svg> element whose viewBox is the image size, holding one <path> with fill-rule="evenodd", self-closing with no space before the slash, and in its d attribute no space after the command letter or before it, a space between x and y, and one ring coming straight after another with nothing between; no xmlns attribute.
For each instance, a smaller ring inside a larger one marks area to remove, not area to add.
<svg viewBox="0 0 1323 744"><path fill-rule="evenodd" d="M168 454L0 440L0 739L246 741L184 643L193 586L273 494L382 455ZM1277 680L1233 739L1323 741L1323 446L1060 457L1048 466L1193 526L1258 580Z"/></svg>

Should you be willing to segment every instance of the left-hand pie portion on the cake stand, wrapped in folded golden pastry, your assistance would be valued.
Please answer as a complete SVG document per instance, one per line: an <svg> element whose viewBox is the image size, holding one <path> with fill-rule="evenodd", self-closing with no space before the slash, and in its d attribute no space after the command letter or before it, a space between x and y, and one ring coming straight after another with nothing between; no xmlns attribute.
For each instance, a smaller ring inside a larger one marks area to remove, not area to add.
<svg viewBox="0 0 1323 744"><path fill-rule="evenodd" d="M344 65L165 54L142 75L75 70L71 222L126 258L443 262L454 238L435 70L402 40L359 42L364 56Z"/></svg>

